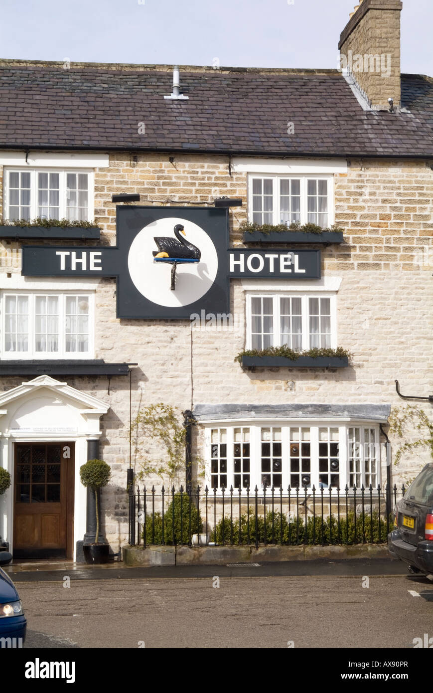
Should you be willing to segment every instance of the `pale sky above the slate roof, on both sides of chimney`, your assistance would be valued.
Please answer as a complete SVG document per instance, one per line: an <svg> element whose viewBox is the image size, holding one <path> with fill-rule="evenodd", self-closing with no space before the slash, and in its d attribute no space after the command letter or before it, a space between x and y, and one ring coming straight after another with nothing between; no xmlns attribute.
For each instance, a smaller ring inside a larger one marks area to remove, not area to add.
<svg viewBox="0 0 433 693"><path fill-rule="evenodd" d="M335 68L356 0L0 0L0 58ZM433 0L403 0L402 72L433 76Z"/></svg>

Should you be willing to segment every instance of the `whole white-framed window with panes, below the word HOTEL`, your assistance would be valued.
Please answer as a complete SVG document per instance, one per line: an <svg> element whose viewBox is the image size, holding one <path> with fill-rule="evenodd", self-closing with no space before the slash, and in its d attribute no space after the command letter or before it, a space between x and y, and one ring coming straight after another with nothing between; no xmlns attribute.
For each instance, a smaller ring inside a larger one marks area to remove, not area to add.
<svg viewBox="0 0 433 693"><path fill-rule="evenodd" d="M337 347L335 295L250 293L247 349Z"/></svg>

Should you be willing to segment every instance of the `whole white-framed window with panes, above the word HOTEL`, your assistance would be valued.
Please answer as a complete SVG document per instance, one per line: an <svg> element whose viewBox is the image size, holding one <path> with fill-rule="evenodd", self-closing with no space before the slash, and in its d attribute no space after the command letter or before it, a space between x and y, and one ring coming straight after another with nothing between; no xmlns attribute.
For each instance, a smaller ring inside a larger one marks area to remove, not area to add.
<svg viewBox="0 0 433 693"><path fill-rule="evenodd" d="M249 221L298 222L325 229L333 224L333 177L329 175L249 175Z"/></svg>

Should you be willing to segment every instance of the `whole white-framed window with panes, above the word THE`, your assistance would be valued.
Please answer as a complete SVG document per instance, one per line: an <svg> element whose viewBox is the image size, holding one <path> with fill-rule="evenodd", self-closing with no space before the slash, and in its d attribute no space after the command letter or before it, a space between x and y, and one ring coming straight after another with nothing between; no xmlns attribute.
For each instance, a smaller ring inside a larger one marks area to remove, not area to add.
<svg viewBox="0 0 433 693"><path fill-rule="evenodd" d="M5 168L4 180L4 216L8 220L90 221L94 217L93 174L89 170Z"/></svg>

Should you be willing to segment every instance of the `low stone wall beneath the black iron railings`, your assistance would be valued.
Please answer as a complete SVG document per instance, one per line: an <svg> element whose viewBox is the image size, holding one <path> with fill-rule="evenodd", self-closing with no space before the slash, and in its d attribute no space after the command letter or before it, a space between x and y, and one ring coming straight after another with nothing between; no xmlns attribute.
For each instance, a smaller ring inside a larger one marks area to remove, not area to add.
<svg viewBox="0 0 433 693"><path fill-rule="evenodd" d="M353 546L152 546L123 549L125 565L227 565L227 563L269 563L274 561L314 561L317 559L389 558L387 544Z"/></svg>

